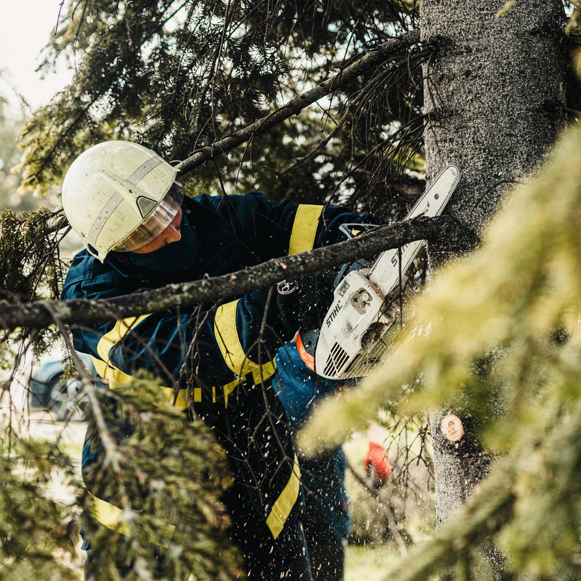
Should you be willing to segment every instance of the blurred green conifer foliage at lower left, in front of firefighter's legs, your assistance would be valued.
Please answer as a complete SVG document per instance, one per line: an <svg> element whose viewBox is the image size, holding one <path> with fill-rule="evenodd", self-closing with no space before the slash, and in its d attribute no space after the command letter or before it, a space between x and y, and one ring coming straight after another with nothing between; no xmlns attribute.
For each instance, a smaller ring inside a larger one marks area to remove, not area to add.
<svg viewBox="0 0 581 581"><path fill-rule="evenodd" d="M87 376L83 384L105 451L105 461L85 477L121 508L119 525L107 528L84 518L98 510L95 497L78 479L60 439L23 437L17 422L8 425L5 416L0 579L78 581L80 525L91 530L91 554L100 567L94 581L243 577L241 560L224 534L229 518L220 502L232 479L211 430L173 407L155 406L159 385L151 378L134 378L116 390L93 385ZM74 502L63 501L64 489ZM167 537L170 549L160 551Z"/></svg>

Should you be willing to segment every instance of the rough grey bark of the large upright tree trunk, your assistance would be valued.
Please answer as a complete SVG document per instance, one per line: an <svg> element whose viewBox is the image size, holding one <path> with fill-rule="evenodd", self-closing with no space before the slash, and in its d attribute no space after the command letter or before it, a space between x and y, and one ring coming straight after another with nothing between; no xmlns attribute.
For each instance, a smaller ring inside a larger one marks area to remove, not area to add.
<svg viewBox="0 0 581 581"><path fill-rule="evenodd" d="M479 232L510 184L529 175L564 124L565 14L561 0L423 0L422 42L436 49L424 65L424 139L428 182L446 163L462 178L448 212ZM449 259L431 249L432 266ZM476 417L451 403L433 413L436 510L442 525L486 474L489 458L475 442ZM444 438L440 419L457 413L458 442Z"/></svg>

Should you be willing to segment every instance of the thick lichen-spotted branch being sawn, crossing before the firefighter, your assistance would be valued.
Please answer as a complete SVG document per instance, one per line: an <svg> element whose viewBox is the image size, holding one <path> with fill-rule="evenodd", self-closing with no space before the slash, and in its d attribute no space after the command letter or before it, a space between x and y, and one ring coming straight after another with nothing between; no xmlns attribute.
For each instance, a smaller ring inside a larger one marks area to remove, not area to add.
<svg viewBox="0 0 581 581"><path fill-rule="evenodd" d="M156 313L243 295L285 278L337 266L416 240L442 241L447 246L468 248L475 244L472 232L449 216L420 216L410 221L383 226L345 242L309 250L293 256L271 259L257 266L220 277L171 284L159 289L135 292L114 299L38 301L32 304L0 305L0 328L44 328L55 315L67 323L96 323Z"/></svg>

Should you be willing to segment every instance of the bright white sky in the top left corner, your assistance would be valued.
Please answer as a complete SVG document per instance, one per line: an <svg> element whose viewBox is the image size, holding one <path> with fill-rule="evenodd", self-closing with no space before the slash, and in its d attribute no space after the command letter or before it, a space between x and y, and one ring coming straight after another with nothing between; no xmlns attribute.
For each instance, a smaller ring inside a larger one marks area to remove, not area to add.
<svg viewBox="0 0 581 581"><path fill-rule="evenodd" d="M64 0L66 8L69 2ZM35 69L40 64L42 48L55 30L61 0L1 0L2 34L0 34L0 94L9 99L10 110L15 114L20 107L13 85L26 98L33 109L44 105L51 97L70 83L73 71L64 59L58 63L56 73L45 80Z"/></svg>

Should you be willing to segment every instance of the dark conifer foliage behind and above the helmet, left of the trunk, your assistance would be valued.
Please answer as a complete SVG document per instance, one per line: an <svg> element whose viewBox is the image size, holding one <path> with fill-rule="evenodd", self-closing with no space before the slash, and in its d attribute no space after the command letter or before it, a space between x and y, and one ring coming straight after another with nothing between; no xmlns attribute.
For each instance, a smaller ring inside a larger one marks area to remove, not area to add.
<svg viewBox="0 0 581 581"><path fill-rule="evenodd" d="M73 82L23 131L24 185L44 191L59 184L78 153L103 139L144 139L167 159L185 159L416 20L411 0L71 3L42 68L64 53ZM418 164L419 64L428 52L380 64L323 108L253 138L217 166L197 168L190 192L221 192L219 173L231 188L260 187L278 197L345 198L360 188L359 198L377 197L378 188L392 188L394 173ZM318 155L281 176L314 149Z"/></svg>

